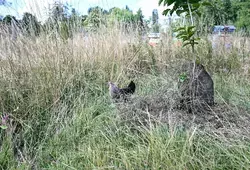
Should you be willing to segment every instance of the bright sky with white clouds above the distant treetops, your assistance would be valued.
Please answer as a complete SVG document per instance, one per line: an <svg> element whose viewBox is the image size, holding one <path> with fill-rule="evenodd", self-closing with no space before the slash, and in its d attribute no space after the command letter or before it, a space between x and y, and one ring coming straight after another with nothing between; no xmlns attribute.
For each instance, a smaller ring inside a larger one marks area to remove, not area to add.
<svg viewBox="0 0 250 170"><path fill-rule="evenodd" d="M45 21L47 18L49 4L55 1L68 3L80 14L87 14L90 7L100 6L106 10L112 7L125 8L126 5L136 12L141 8L146 19L152 16L153 9L158 9L159 20L166 18L161 13L163 6L158 6L158 0L7 0L11 3L8 6L0 6L0 16L13 15L18 19L22 18L24 12L35 15L39 21Z"/></svg>

